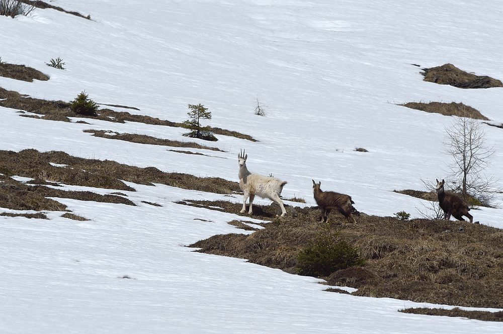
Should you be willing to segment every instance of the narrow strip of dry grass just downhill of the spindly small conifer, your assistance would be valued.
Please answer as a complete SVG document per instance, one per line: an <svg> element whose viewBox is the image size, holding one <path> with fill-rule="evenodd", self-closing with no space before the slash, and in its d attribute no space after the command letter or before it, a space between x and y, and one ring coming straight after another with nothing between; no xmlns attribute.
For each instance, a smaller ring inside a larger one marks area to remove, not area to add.
<svg viewBox="0 0 503 334"><path fill-rule="evenodd" d="M105 131L105 130L84 130L86 133L92 133L93 136L95 137L100 137L100 138L107 138L107 139L117 139L117 140L123 140L126 142L132 142L132 143L138 143L138 144L148 144L148 145L163 145L163 146L172 146L172 147L187 147L187 148L193 148L193 149L204 149L204 150L211 150L211 151L219 151L223 152L222 150L216 148L216 147L208 147L205 145L200 145L198 143L194 142L180 142L176 140L169 140L169 139L160 139L160 138L155 138L147 135L136 135L136 134L127 134L127 133L118 133L118 132L113 132L113 131ZM182 151L185 153L185 151Z"/></svg>

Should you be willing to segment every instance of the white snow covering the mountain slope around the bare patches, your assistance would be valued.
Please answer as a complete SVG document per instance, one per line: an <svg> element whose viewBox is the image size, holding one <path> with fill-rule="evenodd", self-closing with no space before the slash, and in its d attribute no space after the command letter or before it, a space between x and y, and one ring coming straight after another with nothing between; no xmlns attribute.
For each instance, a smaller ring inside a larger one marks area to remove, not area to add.
<svg viewBox="0 0 503 334"><path fill-rule="evenodd" d="M303 197L313 205L314 179L324 190L351 194L368 214L404 210L419 217L422 201L392 190L425 190L422 179L447 177L444 128L453 118L396 104L463 102L503 122L503 88L424 82L420 68L411 65L452 63L503 78L498 0L53 4L92 20L51 9L0 17L2 60L50 76L31 83L0 77L0 86L66 101L86 90L99 103L141 110L114 109L174 122L187 119L187 103L202 103L212 112L209 125L259 142L217 135L218 142L200 142L225 152L186 155L82 132L187 140L180 128L53 122L0 107L2 150L65 151L237 181L237 153L244 148L250 171L288 181L284 198ZM66 70L45 65L57 57ZM267 104L266 117L253 113L257 97ZM483 126L496 147L487 172L503 188L503 130ZM369 152L355 152L358 147ZM122 192L138 206L57 199L89 221L60 217L63 212L48 212L50 220L0 216L1 333L503 332L501 323L397 312L431 304L327 293L315 278L192 252L184 246L246 233L227 224L242 218L175 202L239 202L241 196L128 184L137 191ZM495 202L502 200L499 195ZM481 224L503 227L499 208L473 215Z"/></svg>

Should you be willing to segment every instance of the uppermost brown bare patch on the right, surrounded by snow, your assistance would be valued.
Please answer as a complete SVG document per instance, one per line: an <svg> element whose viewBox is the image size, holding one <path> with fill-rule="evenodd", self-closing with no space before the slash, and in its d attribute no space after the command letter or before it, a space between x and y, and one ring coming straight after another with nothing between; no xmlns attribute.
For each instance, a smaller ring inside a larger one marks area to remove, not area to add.
<svg viewBox="0 0 503 334"><path fill-rule="evenodd" d="M491 88L503 87L500 80L488 76L479 76L460 70L453 64L423 68L425 81L435 82L443 85L451 85L458 88Z"/></svg>

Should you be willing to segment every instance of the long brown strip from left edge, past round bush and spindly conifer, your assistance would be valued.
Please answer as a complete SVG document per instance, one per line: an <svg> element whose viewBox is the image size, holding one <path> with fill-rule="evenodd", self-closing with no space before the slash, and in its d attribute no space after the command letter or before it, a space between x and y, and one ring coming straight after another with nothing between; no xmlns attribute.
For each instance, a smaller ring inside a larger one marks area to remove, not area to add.
<svg viewBox="0 0 503 334"><path fill-rule="evenodd" d="M133 115L128 112L116 112L111 109L100 109L98 110L96 116L77 115L70 109L70 103L68 102L49 101L39 98L27 97L21 95L16 91L7 90L2 87L0 87L0 106L19 110L26 110L27 112L43 115L39 118L49 121L70 122L69 117L79 117L79 118L89 118L114 123L136 122L150 125L185 128L184 124L182 123L160 120L155 117L144 116L144 115ZM34 117L34 116L30 115L28 117ZM240 139L249 140L252 142L257 142L257 140L254 139L253 137L241 134L236 131L230 131L220 128L210 128L209 131L217 135L232 136Z"/></svg>

